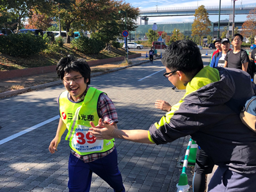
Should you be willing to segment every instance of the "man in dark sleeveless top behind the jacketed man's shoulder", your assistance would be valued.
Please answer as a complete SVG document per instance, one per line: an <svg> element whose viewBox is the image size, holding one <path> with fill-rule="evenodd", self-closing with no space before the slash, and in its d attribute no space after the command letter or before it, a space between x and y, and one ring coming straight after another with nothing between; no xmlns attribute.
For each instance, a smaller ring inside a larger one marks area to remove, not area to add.
<svg viewBox="0 0 256 192"><path fill-rule="evenodd" d="M232 38L232 45L234 49L228 52L225 57L224 67L228 68L239 68L247 72L249 56L246 51L241 49L243 43L243 36L239 33L236 33Z"/></svg>

